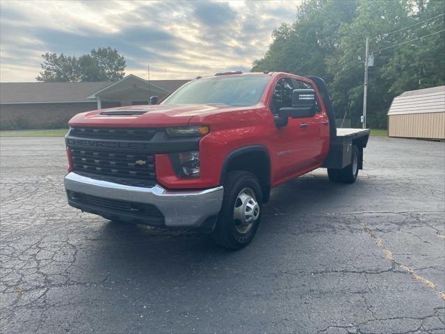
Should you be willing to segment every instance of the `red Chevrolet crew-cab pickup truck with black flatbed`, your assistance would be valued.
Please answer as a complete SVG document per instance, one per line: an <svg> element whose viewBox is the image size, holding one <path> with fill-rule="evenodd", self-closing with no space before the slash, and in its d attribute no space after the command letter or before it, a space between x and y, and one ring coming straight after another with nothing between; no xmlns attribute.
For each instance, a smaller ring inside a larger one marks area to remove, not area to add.
<svg viewBox="0 0 445 334"><path fill-rule="evenodd" d="M369 130L336 129L322 79L218 73L157 103L79 113L65 136L72 207L252 241L270 189L319 167L353 183Z"/></svg>

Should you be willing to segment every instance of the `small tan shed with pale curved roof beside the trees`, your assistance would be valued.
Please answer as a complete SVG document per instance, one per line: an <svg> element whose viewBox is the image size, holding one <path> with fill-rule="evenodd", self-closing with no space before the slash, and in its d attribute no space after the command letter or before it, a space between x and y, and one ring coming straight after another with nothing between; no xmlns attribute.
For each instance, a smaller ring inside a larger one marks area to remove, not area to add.
<svg viewBox="0 0 445 334"><path fill-rule="evenodd" d="M387 115L390 137L445 139L445 86L398 95Z"/></svg>

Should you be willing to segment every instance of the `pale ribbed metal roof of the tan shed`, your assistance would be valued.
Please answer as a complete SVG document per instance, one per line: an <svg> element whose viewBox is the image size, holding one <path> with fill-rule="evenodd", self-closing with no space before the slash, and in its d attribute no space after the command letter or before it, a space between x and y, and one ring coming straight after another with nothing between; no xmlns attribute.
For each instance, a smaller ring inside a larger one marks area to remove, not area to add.
<svg viewBox="0 0 445 334"><path fill-rule="evenodd" d="M394 97L388 115L441 112L445 112L445 86L410 90Z"/></svg>

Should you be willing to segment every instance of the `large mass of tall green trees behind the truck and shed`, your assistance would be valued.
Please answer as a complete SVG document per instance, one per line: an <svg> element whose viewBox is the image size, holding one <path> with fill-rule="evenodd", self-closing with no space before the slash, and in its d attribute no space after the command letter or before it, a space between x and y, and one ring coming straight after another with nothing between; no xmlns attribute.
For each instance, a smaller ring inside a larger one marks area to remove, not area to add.
<svg viewBox="0 0 445 334"><path fill-rule="evenodd" d="M293 24L273 31L265 56L252 71L280 71L325 79L338 118L359 125L363 105L366 37L374 52L369 67L367 122L385 128L393 98L405 90L445 84L445 0L306 0ZM423 22L426 19L430 19ZM422 22L422 23L420 23ZM420 24L416 24L420 23ZM407 26L410 29L403 29ZM403 29L396 33L391 33ZM407 42L414 40L412 42ZM405 44L392 47L400 43Z"/></svg>

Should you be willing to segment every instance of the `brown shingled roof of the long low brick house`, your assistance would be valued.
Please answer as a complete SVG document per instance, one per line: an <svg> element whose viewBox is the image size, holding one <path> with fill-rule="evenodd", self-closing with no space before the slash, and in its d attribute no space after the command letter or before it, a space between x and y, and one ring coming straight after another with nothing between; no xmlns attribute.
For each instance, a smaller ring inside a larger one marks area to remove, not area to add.
<svg viewBox="0 0 445 334"><path fill-rule="evenodd" d="M93 102L95 93L113 87L126 80L144 79L133 74L120 81L97 82L2 82L0 83L0 103L44 103L44 102ZM165 94L176 90L188 80L151 80L150 84L161 88ZM112 90L112 89L111 89Z"/></svg>

